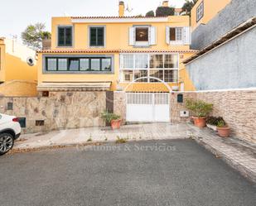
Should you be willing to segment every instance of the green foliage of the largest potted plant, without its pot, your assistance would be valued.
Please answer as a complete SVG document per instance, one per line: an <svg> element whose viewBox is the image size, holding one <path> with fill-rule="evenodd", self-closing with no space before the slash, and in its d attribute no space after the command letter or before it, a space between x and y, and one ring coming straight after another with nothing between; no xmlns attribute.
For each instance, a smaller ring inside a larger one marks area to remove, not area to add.
<svg viewBox="0 0 256 206"><path fill-rule="evenodd" d="M206 117L212 111L213 104L190 98L186 100L186 108L191 110L196 117Z"/></svg>

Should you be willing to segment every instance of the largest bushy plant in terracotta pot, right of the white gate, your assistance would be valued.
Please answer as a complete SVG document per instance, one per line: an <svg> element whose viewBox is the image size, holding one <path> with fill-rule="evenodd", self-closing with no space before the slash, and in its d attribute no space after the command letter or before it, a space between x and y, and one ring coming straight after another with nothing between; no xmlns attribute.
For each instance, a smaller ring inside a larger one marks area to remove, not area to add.
<svg viewBox="0 0 256 206"><path fill-rule="evenodd" d="M205 127L205 119L212 111L213 105L202 100L187 99L186 108L195 114L192 118L196 127Z"/></svg>

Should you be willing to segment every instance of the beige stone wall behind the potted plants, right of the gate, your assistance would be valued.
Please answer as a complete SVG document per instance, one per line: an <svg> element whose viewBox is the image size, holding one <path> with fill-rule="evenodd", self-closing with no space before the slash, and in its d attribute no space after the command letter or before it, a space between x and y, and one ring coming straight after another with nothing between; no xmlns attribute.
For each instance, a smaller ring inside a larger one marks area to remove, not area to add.
<svg viewBox="0 0 256 206"><path fill-rule="evenodd" d="M201 99L213 103L210 115L224 117L236 137L256 143L256 90L183 93L184 103L176 103L177 94L171 95L171 122L188 121L180 117L180 111L186 110L186 99Z"/></svg>

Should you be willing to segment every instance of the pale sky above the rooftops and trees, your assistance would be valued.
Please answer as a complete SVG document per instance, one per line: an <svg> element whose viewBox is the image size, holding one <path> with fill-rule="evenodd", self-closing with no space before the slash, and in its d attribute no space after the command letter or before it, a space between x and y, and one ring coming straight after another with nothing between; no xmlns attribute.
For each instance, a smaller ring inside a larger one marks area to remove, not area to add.
<svg viewBox="0 0 256 206"><path fill-rule="evenodd" d="M20 37L27 25L46 23L51 30L51 17L60 16L117 16L118 0L2 0L0 12L0 36ZM124 0L133 11L126 15L145 14L155 10L162 0ZM185 0L169 0L169 4L181 7ZM3 7L2 7L3 6Z"/></svg>

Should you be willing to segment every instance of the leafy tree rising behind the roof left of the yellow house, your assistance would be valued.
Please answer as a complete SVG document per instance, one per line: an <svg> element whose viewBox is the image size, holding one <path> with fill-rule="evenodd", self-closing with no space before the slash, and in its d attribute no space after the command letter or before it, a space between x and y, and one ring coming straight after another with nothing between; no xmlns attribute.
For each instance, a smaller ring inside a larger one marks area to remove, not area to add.
<svg viewBox="0 0 256 206"><path fill-rule="evenodd" d="M45 29L46 25L43 23L27 26L25 31L22 32L23 44L33 50L41 50L41 41L51 39L51 33L45 31Z"/></svg>

